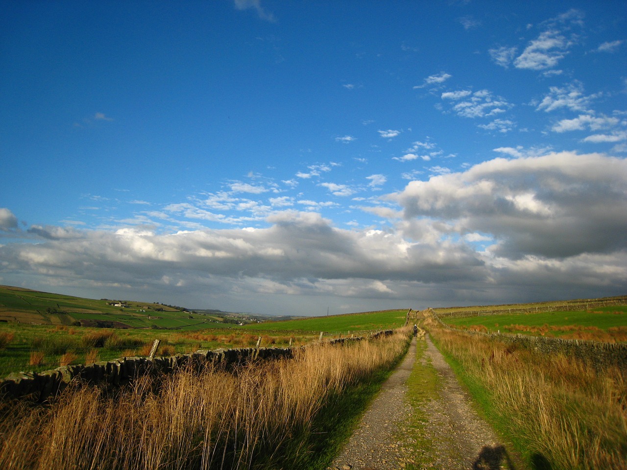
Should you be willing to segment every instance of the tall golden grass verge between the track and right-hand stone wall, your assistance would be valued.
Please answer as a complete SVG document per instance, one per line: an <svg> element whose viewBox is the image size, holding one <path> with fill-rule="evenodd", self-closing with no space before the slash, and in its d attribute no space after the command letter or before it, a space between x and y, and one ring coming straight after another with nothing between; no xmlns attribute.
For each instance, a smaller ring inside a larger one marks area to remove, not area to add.
<svg viewBox="0 0 627 470"><path fill-rule="evenodd" d="M580 360L431 328L487 392L502 427L553 469L627 468L627 377Z"/></svg>

